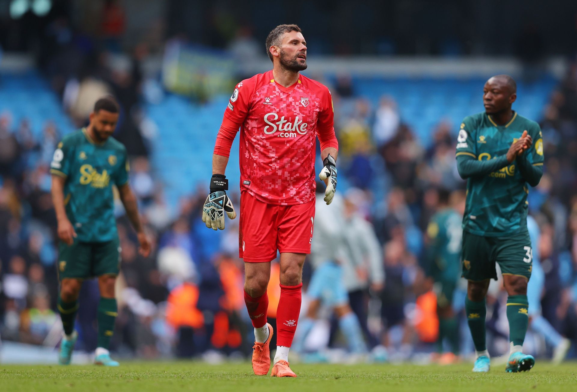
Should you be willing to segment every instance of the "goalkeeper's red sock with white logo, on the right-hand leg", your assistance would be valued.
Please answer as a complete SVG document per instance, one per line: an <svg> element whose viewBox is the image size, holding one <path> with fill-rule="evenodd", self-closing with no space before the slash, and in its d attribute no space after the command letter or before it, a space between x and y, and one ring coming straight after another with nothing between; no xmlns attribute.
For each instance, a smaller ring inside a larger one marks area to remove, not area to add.
<svg viewBox="0 0 577 392"><path fill-rule="evenodd" d="M279 307L276 309L276 345L290 347L301 313L302 283L296 286L280 285Z"/></svg>

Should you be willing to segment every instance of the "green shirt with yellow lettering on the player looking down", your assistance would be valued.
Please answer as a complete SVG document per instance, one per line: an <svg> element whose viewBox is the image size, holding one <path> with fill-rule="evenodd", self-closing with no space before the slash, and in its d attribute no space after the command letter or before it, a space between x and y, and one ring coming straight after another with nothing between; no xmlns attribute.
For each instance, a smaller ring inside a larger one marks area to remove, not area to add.
<svg viewBox="0 0 577 392"><path fill-rule="evenodd" d="M128 182L124 145L113 137L98 144L83 128L62 139L50 167L50 173L66 178L66 215L78 241L105 242L117 238L113 185Z"/></svg>

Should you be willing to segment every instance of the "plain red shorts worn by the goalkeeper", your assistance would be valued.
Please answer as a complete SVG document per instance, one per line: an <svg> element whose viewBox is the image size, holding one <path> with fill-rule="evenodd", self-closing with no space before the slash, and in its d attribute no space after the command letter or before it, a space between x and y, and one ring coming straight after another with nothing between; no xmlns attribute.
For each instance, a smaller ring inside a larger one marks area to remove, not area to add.
<svg viewBox="0 0 577 392"><path fill-rule="evenodd" d="M314 199L304 204L267 204L241 192L238 253L249 263L270 262L281 253L310 253Z"/></svg>

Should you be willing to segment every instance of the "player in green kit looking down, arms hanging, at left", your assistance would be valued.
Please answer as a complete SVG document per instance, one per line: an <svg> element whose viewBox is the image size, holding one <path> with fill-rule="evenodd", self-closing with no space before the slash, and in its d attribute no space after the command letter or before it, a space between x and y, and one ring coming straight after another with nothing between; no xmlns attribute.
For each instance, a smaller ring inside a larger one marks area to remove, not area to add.
<svg viewBox="0 0 577 392"><path fill-rule="evenodd" d="M140 253L150 245L138 216L137 200L128 184L126 148L111 135L118 121L118 104L112 97L99 99L90 124L65 136L50 165L52 199L58 219L58 311L64 327L59 363L72 357L77 333L74 319L78 293L84 279L98 277L98 348L95 363L118 366L108 345L114 331L117 303L114 283L120 268L120 248L114 218L113 185L130 223L136 230Z"/></svg>

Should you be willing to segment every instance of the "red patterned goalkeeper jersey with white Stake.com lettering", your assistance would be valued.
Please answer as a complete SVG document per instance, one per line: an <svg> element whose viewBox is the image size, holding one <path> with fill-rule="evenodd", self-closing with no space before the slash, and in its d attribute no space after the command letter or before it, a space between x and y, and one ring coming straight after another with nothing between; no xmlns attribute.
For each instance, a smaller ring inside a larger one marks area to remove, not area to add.
<svg viewBox="0 0 577 392"><path fill-rule="evenodd" d="M315 139L321 150L338 148L327 87L302 75L283 87L275 83L272 70L243 80L224 111L215 154L230 154L238 128L241 191L269 204L314 199Z"/></svg>

